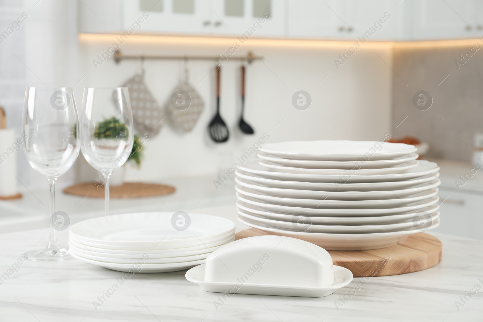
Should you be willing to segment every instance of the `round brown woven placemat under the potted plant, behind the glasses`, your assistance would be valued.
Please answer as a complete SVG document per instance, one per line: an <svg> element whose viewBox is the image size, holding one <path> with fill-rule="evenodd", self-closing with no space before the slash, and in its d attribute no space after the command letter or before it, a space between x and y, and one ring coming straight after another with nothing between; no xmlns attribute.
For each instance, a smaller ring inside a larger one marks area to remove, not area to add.
<svg viewBox="0 0 483 322"><path fill-rule="evenodd" d="M125 182L123 185L110 186L111 198L140 198L172 194L176 189L169 185L142 182ZM84 182L71 185L64 193L91 198L103 198L104 186L100 182Z"/></svg>

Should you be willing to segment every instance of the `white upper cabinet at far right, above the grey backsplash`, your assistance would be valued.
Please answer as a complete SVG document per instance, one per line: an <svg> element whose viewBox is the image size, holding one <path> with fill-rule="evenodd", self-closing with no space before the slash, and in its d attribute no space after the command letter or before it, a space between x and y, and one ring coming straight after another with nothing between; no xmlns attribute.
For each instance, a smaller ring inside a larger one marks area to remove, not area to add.
<svg viewBox="0 0 483 322"><path fill-rule="evenodd" d="M413 0L405 5L412 13L410 40L474 38L482 31L479 0Z"/></svg>

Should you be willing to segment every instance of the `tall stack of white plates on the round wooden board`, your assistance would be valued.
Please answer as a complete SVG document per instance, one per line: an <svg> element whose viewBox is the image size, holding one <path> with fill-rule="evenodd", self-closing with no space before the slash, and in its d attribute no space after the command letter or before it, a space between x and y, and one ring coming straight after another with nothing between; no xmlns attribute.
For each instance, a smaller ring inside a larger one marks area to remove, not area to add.
<svg viewBox="0 0 483 322"><path fill-rule="evenodd" d="M238 219L334 251L395 245L439 225L439 167L415 151L380 141L266 144L236 171Z"/></svg>

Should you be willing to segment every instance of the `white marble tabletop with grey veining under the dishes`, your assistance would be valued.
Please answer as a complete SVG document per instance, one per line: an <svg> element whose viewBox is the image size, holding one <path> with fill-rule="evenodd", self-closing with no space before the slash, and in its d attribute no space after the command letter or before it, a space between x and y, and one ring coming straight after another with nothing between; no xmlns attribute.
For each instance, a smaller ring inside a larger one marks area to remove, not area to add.
<svg viewBox="0 0 483 322"><path fill-rule="evenodd" d="M235 220L232 204L191 211ZM244 228L237 224L237 230ZM24 252L45 244L47 233L42 228L0 234L0 321L483 321L479 240L435 233L443 242L439 265L355 278L327 297L235 294L220 306L220 294L202 291L179 271L134 274L97 307L93 302L124 273L79 260L23 261Z"/></svg>

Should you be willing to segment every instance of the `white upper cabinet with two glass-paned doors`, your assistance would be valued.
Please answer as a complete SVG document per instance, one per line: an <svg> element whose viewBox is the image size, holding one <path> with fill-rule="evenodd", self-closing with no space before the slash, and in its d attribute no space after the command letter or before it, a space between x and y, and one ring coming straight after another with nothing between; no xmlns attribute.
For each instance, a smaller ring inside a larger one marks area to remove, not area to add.
<svg viewBox="0 0 483 322"><path fill-rule="evenodd" d="M128 28L142 13L142 32L283 36L284 5L273 0L131 0L124 1Z"/></svg>

